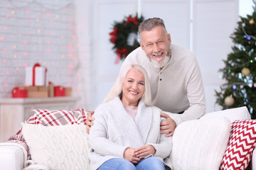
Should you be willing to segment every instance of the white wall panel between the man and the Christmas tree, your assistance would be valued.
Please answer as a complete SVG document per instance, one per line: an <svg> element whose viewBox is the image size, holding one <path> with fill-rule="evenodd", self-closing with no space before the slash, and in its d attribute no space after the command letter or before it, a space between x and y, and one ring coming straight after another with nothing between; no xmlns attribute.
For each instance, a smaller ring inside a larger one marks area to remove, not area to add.
<svg viewBox="0 0 256 170"><path fill-rule="evenodd" d="M206 92L206 113L216 111L215 90L223 84L220 68L233 45L230 35L238 22L238 0L193 1L193 53L198 59Z"/></svg>

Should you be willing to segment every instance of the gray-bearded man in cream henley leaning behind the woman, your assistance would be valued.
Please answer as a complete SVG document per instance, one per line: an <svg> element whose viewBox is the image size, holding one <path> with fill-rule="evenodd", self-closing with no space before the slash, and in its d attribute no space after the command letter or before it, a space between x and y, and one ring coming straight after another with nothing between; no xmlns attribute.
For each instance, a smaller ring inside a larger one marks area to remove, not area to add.
<svg viewBox="0 0 256 170"><path fill-rule="evenodd" d="M206 98L196 57L184 47L171 45L161 18L149 18L139 25L140 47L131 52L122 64L139 64L149 74L154 106L169 112L161 116L161 133L173 135L176 125L201 118L206 112ZM178 114L172 114L178 113ZM87 118L90 130L93 118Z"/></svg>

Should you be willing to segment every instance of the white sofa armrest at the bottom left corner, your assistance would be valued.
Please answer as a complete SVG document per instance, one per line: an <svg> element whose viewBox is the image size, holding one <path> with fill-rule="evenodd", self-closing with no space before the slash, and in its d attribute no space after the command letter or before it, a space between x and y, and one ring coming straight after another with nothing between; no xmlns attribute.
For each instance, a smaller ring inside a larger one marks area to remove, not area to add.
<svg viewBox="0 0 256 170"><path fill-rule="evenodd" d="M24 152L21 147L15 145L0 145L1 169L22 170L24 161Z"/></svg>

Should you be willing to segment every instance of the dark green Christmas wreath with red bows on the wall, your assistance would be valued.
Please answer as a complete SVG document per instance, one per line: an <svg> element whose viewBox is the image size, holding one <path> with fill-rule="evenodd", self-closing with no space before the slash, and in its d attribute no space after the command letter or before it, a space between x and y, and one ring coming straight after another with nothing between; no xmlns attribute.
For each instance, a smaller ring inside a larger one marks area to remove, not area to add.
<svg viewBox="0 0 256 170"><path fill-rule="evenodd" d="M123 21L114 21L113 31L110 33L110 42L114 44L114 52L117 54L115 63L124 59L134 49L139 47L137 32L139 23L142 23L143 17L135 16L125 17Z"/></svg>

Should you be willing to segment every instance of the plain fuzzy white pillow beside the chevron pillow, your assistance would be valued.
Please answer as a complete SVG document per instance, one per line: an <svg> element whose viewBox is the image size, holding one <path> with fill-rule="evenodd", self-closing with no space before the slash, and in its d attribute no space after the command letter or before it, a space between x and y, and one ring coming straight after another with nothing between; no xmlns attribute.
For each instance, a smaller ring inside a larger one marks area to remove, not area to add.
<svg viewBox="0 0 256 170"><path fill-rule="evenodd" d="M173 169L219 169L230 135L228 118L188 120L173 135Z"/></svg>

